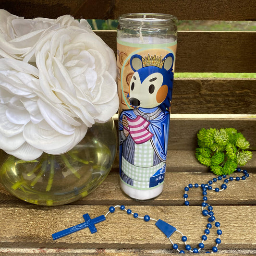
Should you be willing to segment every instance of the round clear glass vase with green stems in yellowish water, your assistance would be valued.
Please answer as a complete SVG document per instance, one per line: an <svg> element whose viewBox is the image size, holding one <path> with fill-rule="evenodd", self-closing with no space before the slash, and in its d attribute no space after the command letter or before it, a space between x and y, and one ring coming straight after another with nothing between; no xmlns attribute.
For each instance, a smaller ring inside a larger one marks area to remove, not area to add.
<svg viewBox="0 0 256 256"><path fill-rule="evenodd" d="M84 139L61 155L43 153L24 161L0 151L0 183L16 197L37 205L63 205L85 197L104 181L117 151L113 119L95 123Z"/></svg>

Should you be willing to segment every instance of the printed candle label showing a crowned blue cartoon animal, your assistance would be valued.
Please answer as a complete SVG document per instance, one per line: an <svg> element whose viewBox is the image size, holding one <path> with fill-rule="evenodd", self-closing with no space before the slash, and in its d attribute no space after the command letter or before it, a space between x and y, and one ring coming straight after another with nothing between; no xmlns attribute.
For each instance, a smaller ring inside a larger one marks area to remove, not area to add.
<svg viewBox="0 0 256 256"><path fill-rule="evenodd" d="M135 189L164 181L176 43L117 40L120 177Z"/></svg>

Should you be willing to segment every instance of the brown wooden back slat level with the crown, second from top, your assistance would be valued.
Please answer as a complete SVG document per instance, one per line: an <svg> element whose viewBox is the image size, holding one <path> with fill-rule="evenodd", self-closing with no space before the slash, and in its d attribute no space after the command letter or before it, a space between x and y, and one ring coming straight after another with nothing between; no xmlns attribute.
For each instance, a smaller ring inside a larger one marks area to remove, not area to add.
<svg viewBox="0 0 256 256"><path fill-rule="evenodd" d="M116 52L116 31L95 31ZM175 72L256 73L256 32L178 32Z"/></svg>

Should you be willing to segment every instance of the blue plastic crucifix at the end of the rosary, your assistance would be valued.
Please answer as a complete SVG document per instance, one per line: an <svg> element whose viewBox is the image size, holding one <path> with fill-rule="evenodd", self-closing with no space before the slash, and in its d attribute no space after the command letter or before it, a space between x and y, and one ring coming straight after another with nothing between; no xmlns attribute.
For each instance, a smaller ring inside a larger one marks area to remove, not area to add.
<svg viewBox="0 0 256 256"><path fill-rule="evenodd" d="M89 228L90 232L93 234L93 233L97 232L95 224L97 224L97 223L106 219L104 215L101 215L101 216L98 216L97 218L91 219L88 213L84 214L83 217L85 219L85 222L83 222L81 224L78 224L78 225L75 225L71 228L68 228L68 229L65 229L65 230L62 230L60 232L52 234L53 240L56 240L56 239L61 238L63 236L72 234L76 231L85 229L87 227Z"/></svg>

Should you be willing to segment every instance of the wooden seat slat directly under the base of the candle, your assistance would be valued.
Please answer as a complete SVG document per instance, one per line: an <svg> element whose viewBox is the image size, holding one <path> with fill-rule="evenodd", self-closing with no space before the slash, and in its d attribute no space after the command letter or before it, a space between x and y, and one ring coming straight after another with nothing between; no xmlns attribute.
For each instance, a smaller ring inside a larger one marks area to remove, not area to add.
<svg viewBox="0 0 256 256"><path fill-rule="evenodd" d="M249 171L249 169L247 169ZM238 176L237 173L232 174L233 177ZM241 175L239 175L241 176ZM73 202L72 205L169 205L182 206L184 204L184 187L189 183L207 183L216 177L213 173L183 173L183 172L167 172L165 177L164 190L158 198L150 200L146 203L135 202L134 200L123 195L120 190L119 173L111 171L106 180L91 194ZM216 183L220 187L223 182ZM208 192L208 201L211 205L255 205L256 204L256 173L251 173L245 181L233 181L228 183L225 191L215 193ZM213 185L214 186L214 185ZM214 186L215 187L215 186ZM192 189L189 192L190 205L201 205L202 194L200 189ZM4 205L26 205L30 206L22 200L10 195L0 185L0 203ZM40 209L40 207L38 208Z"/></svg>

